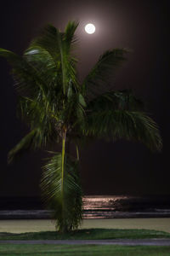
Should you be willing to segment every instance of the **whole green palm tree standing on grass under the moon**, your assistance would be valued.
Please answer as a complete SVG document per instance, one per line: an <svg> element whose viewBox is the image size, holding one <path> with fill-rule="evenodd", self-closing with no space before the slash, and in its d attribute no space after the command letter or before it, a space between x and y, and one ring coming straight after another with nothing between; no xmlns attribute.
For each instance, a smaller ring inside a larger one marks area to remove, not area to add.
<svg viewBox="0 0 170 256"><path fill-rule="evenodd" d="M161 137L153 119L130 90L108 90L107 82L123 61L126 49L111 49L99 57L82 84L77 79L77 22L65 32L46 26L22 56L0 49L12 66L19 94L18 112L30 132L8 154L8 161L28 149L58 143L42 167L42 195L54 210L61 232L77 229L82 220L82 188L78 164L82 141L124 138L161 150ZM77 157L69 153L74 144Z"/></svg>

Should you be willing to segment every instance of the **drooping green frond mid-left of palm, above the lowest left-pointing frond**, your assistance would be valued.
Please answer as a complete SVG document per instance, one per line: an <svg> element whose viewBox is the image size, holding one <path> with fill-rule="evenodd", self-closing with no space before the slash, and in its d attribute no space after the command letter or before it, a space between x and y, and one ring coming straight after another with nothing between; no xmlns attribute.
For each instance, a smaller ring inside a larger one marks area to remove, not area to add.
<svg viewBox="0 0 170 256"><path fill-rule="evenodd" d="M32 143L35 148L45 148L49 143L59 142L59 132L56 129L57 117L56 109L53 105L38 102L27 97L20 97L18 103L18 114L29 125L31 130L37 129L37 136Z"/></svg>

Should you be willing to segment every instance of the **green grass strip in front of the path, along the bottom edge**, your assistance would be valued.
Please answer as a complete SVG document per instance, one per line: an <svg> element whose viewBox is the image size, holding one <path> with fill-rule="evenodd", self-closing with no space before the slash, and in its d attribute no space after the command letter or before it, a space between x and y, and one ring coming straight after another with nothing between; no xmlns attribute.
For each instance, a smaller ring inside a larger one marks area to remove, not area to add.
<svg viewBox="0 0 170 256"><path fill-rule="evenodd" d="M0 245L1 256L169 256L170 247L100 245Z"/></svg>

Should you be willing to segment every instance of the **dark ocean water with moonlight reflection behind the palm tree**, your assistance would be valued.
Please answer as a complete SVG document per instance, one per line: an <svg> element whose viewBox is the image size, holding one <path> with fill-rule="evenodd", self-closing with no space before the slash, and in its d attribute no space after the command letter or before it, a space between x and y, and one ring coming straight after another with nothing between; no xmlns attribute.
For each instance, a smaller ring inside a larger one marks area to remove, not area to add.
<svg viewBox="0 0 170 256"><path fill-rule="evenodd" d="M0 219L46 219L51 211L39 198L1 197ZM170 217L170 195L86 195L83 218Z"/></svg>

